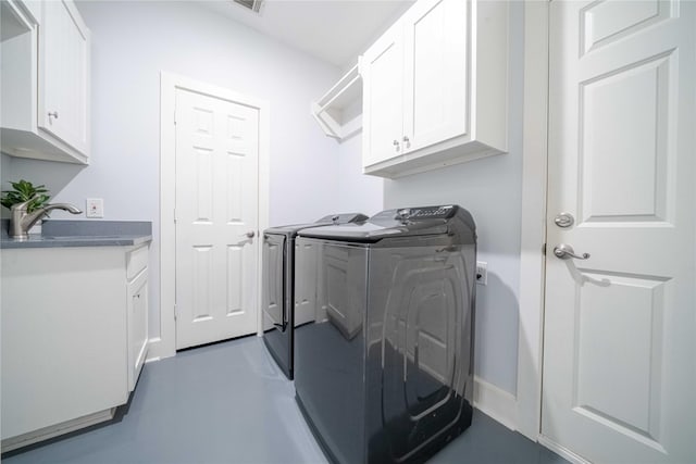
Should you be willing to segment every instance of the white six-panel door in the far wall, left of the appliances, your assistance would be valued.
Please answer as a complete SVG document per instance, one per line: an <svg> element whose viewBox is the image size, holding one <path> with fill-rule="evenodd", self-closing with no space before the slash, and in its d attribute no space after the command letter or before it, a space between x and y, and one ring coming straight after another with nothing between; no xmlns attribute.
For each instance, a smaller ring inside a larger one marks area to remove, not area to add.
<svg viewBox="0 0 696 464"><path fill-rule="evenodd" d="M257 331L259 110L176 91L176 348Z"/></svg>

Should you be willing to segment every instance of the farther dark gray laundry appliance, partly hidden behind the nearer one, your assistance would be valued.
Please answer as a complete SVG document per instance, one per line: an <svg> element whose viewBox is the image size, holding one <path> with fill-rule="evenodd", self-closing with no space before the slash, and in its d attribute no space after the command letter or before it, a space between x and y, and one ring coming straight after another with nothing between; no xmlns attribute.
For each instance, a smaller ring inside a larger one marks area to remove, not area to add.
<svg viewBox="0 0 696 464"><path fill-rule="evenodd" d="M269 352L293 379L295 322L295 237L307 227L330 226L368 220L360 213L333 214L315 223L271 227L263 231L262 308L263 341ZM306 266L303 266L306 267ZM302 309L307 302L299 302ZM301 323L301 321L300 321Z"/></svg>

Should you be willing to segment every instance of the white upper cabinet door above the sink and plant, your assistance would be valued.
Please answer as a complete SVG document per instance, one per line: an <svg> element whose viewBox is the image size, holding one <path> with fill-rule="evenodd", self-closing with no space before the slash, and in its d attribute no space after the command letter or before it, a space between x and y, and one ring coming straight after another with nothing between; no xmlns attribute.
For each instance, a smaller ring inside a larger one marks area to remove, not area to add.
<svg viewBox="0 0 696 464"><path fill-rule="evenodd" d="M72 2L47 1L42 4L38 125L87 153L89 32Z"/></svg>

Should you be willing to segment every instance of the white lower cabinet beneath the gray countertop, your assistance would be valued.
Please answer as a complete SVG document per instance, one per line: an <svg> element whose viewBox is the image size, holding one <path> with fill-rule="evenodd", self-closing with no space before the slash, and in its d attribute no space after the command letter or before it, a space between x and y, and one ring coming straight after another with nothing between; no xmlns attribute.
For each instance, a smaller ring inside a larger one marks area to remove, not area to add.
<svg viewBox="0 0 696 464"><path fill-rule="evenodd" d="M2 451L113 417L147 354L148 246L2 250Z"/></svg>

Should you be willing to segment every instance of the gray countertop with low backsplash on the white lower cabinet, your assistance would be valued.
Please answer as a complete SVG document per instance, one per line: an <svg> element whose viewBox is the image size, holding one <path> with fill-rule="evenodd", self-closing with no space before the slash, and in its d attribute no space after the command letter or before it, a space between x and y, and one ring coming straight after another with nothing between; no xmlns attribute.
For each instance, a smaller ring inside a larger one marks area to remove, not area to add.
<svg viewBox="0 0 696 464"><path fill-rule="evenodd" d="M128 247L152 240L152 223L144 221L46 221L41 234L28 240L8 237L9 221L0 222L0 248Z"/></svg>

